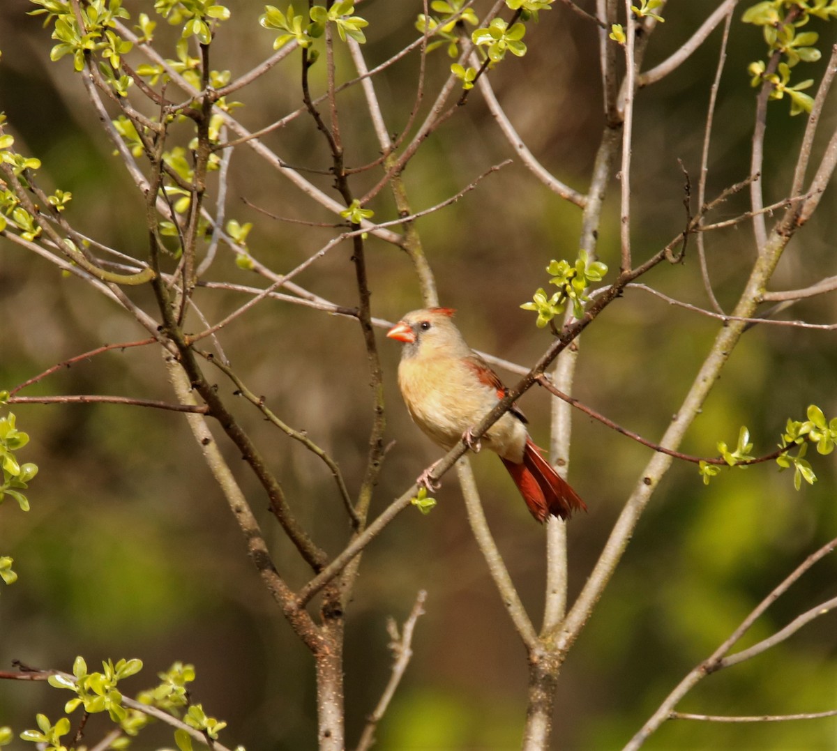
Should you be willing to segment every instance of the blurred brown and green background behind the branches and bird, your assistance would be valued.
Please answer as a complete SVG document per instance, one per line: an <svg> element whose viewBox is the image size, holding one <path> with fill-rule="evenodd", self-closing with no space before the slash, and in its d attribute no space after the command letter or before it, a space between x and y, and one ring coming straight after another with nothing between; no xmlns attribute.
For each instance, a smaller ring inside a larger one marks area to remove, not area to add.
<svg viewBox="0 0 837 751"><path fill-rule="evenodd" d="M151 13L150 2L124 3ZM272 52L274 34L259 28L259 3L232 0L233 19L213 43L213 67L235 76ZM594 3L579 3L591 9ZM644 68L678 49L717 3L671 3L655 32ZM143 258L143 205L85 98L69 58L49 62L53 42L26 0L0 3L0 110L24 154L44 161L44 187L73 193L68 217L101 242ZM387 59L414 38L421 3L363 3L370 21L367 62ZM481 5L478 4L478 10ZM834 25L834 24L832 24ZM160 38L176 31L159 27ZM820 24L823 40L833 29ZM174 36L172 36L174 35ZM646 258L680 232L681 159L696 181L709 86L720 33L680 71L639 92L634 125L633 243ZM542 163L584 191L603 127L596 31L562 3L531 24L523 59L509 59L491 74L496 94L521 136ZM823 45L824 46L824 45ZM164 45L161 43L160 48ZM172 46L167 47L173 56ZM747 64L763 57L757 28L732 23L710 159L710 197L747 176L755 95ZM449 67L444 50L430 56L421 117ZM341 79L351 61L340 53ZM800 78L819 80L823 63ZM375 79L388 127L407 122L419 78L409 56ZM322 90L322 66L312 79ZM239 119L252 130L301 104L295 56L271 69L237 99ZM175 97L177 99L177 97ZM342 94L341 129L347 163L377 156L360 92ZM837 123L834 108L823 131ZM766 202L786 195L802 117L789 118L785 102L768 115ZM184 130L185 133L185 130ZM187 138L187 136L184 136ZM327 166L325 142L305 117L265 136L294 165ZM818 144L818 148L820 145ZM444 201L475 176L511 155L478 92L427 140L404 174L413 210ZM309 176L306 174L306 176ZM326 192L326 176L310 175ZM362 194L379 171L357 176ZM599 253L619 266L618 192L614 181L600 232ZM333 222L242 148L235 152L227 214L254 222L249 247L282 272L316 252L333 235L327 228L277 222L241 198L284 217ZM387 192L373 202L376 219L397 216ZM713 217L747 208L739 195ZM791 244L774 280L793 289L833 275L834 193L829 191L809 227ZM519 309L546 283L551 258L578 253L581 215L538 183L519 162L490 176L464 199L418 222L442 304L459 309L470 344L521 364L548 343L533 316ZM752 263L748 225L707 238L716 294L729 306ZM356 304L350 249L341 247L296 281L336 304ZM398 319L419 307L408 258L371 239L367 264L373 314ZM258 279L220 253L208 277L257 284ZM656 268L644 279L679 299L708 307L693 247L682 265ZM136 294L153 312L150 295ZM198 302L217 320L244 299L200 290ZM811 299L793 317L835 319L835 298ZM104 343L144 335L116 306L76 278L22 248L0 242L0 387L8 388L68 357ZM717 324L660 299L629 291L583 336L575 393L598 411L650 440L662 435L691 383ZM371 421L362 338L351 320L292 304L261 304L237 319L222 337L235 369L290 425L305 429L340 463L357 489ZM377 486L377 513L412 483L439 451L409 422L395 385L398 347L379 337L386 369L388 452ZM788 417L802 419L809 403L837 413L834 332L759 326L750 330L724 370L683 450L711 455L716 442L734 442L747 425L755 452L773 450ZM504 375L514 381L511 375ZM232 387L221 382L221 388ZM162 359L149 348L102 355L62 370L24 392L119 394L172 401ZM521 401L537 442L548 442L549 401L532 391ZM336 552L347 524L325 467L259 414L236 402L237 415L270 458L300 519L318 542ZM39 477L32 510L0 508L0 553L15 558L18 583L0 594L0 665L13 659L35 667L67 669L84 655L91 669L101 659L140 657L145 670L127 682L140 690L175 660L193 662L193 700L229 721L222 739L249 751L314 748L313 669L290 628L265 593L245 554L244 541L213 484L182 416L128 406L14 406L18 427L32 442L22 459ZM266 500L221 440L269 537L275 560L292 585L306 571L271 524ZM650 452L577 416L570 480L590 512L569 528L570 586L577 593ZM804 557L834 536L834 459L816 457L819 482L793 490L789 473L773 465L723 473L706 488L693 465L675 465L634 534L619 573L562 670L554 747L619 748L650 716L680 678L723 641L752 607ZM474 459L480 489L501 551L537 622L542 611L543 529L534 524L499 462ZM386 620L407 616L420 588L428 590L413 662L379 728L383 749L506 749L521 738L526 699L526 657L485 564L470 537L451 475L429 516L403 513L367 549L347 616L347 737L354 743L364 718L388 679ZM758 621L746 643L768 636L799 612L834 596L834 559L826 559ZM698 713L798 713L837 706L834 618L807 626L768 654L708 677L681 703ZM34 727L34 714L56 718L68 694L42 683L0 682L0 725L16 732ZM94 739L98 718L88 725ZM92 743L92 740L90 741ZM132 748L172 745L155 728ZM26 747L22 741L12 748ZM647 744L655 749L837 748L837 719L807 723L717 725L668 723Z"/></svg>

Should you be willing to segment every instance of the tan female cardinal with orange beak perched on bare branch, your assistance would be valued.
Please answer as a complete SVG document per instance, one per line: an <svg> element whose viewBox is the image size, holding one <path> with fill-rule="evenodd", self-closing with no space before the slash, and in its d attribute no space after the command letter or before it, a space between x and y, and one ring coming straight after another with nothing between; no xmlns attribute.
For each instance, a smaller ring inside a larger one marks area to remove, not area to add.
<svg viewBox="0 0 837 751"><path fill-rule="evenodd" d="M472 444L471 429L506 396L506 386L480 355L465 344L451 308L413 310L387 332L404 343L398 386L413 421L439 446ZM587 510L578 494L542 457L526 432L526 417L512 406L482 441L497 452L539 522L549 514L568 519ZM479 442L474 447L479 450ZM424 475L419 482L426 484Z"/></svg>

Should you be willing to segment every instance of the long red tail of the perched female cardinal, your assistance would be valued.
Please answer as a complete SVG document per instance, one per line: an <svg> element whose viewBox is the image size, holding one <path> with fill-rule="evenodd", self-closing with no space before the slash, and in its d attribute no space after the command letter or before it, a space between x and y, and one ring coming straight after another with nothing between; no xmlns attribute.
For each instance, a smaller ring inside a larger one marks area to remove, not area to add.
<svg viewBox="0 0 837 751"><path fill-rule="evenodd" d="M569 519L573 511L587 511L578 493L558 475L531 438L526 438L522 464L515 464L508 459L502 459L502 462L520 490L531 515L539 522L546 521L550 514Z"/></svg>

